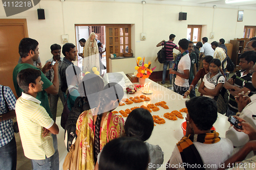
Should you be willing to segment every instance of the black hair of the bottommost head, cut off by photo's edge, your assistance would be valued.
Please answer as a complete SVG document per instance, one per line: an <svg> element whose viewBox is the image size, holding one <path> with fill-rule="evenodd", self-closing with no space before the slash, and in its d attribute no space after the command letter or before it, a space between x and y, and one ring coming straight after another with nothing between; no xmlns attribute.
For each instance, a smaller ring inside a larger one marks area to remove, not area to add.
<svg viewBox="0 0 256 170"><path fill-rule="evenodd" d="M149 155L146 144L133 137L120 137L106 143L99 170L146 170Z"/></svg>

